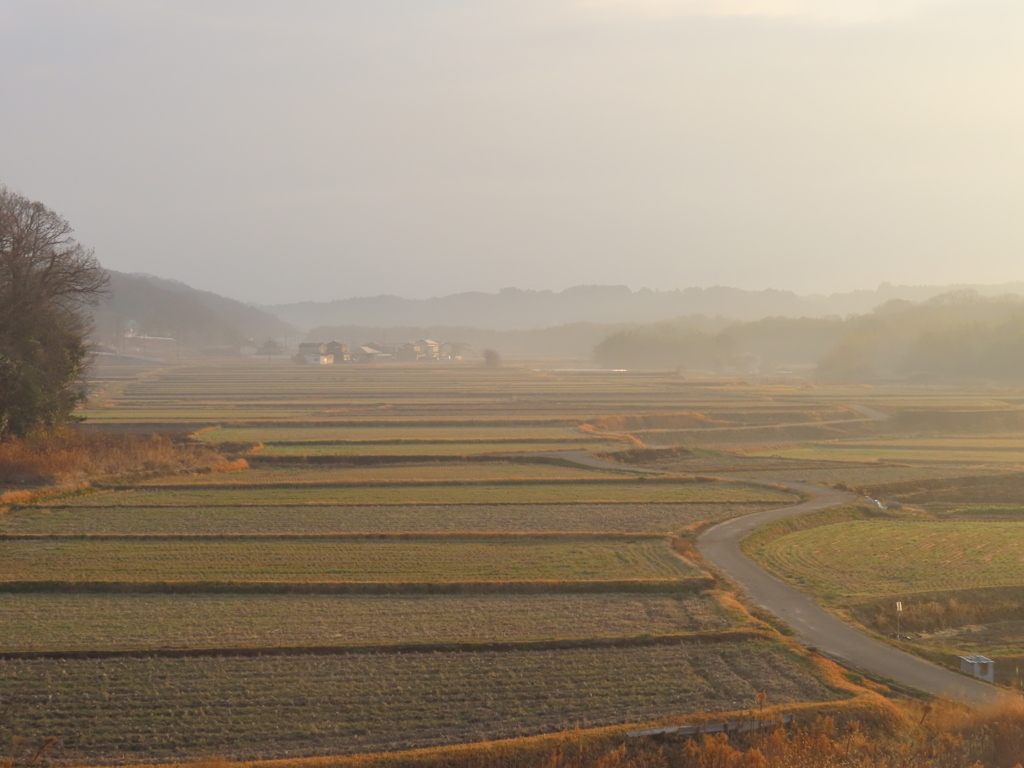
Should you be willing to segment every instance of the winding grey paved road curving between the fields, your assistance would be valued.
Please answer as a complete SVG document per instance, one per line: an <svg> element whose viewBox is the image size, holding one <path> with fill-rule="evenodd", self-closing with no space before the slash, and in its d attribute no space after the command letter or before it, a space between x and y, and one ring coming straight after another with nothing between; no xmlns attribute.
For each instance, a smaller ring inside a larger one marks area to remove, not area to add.
<svg viewBox="0 0 1024 768"><path fill-rule="evenodd" d="M599 469L630 469L665 474L663 471L643 467L624 467L596 459L585 452L559 452L550 455ZM810 596L773 577L739 549L739 543L755 528L785 517L862 501L859 497L801 482L748 478L741 478L741 481L774 483L808 494L811 498L810 501L793 507L756 512L721 522L697 538L697 550L708 562L734 582L753 603L771 611L792 627L804 645L817 648L848 667L965 703L987 703L1006 695L995 686L937 667L853 629L818 606Z"/></svg>

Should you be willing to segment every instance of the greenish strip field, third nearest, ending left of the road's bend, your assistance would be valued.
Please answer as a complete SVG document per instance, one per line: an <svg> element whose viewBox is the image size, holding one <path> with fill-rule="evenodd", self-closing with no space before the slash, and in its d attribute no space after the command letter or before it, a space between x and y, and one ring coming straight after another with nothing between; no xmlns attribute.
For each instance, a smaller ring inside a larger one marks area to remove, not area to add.
<svg viewBox="0 0 1024 768"><path fill-rule="evenodd" d="M674 579L662 538L7 540L2 582L476 582Z"/></svg>

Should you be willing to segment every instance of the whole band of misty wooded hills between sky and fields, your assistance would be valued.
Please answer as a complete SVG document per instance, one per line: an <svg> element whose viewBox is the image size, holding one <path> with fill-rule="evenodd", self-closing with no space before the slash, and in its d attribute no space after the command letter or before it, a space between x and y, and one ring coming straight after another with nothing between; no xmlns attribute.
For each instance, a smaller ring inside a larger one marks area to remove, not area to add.
<svg viewBox="0 0 1024 768"><path fill-rule="evenodd" d="M604 368L739 374L799 368L835 381L1024 377L1020 284L881 286L827 297L580 286L262 309L146 275L113 272L112 285L94 314L97 339L123 351L126 331L154 337L151 354L161 344L165 355L187 356L253 354L265 344L287 354L302 340L340 341L355 351L435 339L469 357L493 349L508 359Z"/></svg>

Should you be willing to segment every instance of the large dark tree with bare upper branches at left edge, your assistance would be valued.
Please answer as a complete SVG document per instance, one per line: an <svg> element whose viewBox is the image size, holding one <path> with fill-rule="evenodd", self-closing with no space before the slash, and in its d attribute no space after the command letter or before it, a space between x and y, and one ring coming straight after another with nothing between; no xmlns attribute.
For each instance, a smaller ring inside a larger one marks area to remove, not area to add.
<svg viewBox="0 0 1024 768"><path fill-rule="evenodd" d="M67 220L0 186L0 439L71 418L106 284Z"/></svg>

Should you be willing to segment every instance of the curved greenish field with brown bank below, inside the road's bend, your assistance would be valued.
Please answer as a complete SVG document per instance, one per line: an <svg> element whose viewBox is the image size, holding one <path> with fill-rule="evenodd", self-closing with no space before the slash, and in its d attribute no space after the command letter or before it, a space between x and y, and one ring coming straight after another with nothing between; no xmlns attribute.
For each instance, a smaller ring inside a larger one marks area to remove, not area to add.
<svg viewBox="0 0 1024 768"><path fill-rule="evenodd" d="M953 669L980 653L997 683L1024 687L1024 518L915 517L809 527L754 554L905 650Z"/></svg>

